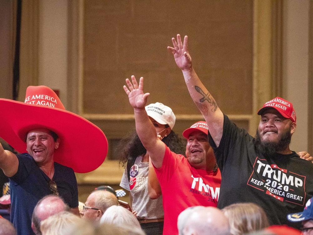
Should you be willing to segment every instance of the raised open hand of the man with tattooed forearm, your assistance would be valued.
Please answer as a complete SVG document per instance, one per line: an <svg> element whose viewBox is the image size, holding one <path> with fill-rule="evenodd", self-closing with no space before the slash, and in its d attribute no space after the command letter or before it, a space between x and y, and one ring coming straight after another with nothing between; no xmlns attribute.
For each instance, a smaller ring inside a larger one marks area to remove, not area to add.
<svg viewBox="0 0 313 235"><path fill-rule="evenodd" d="M184 44L180 35L177 34L177 42L172 38L173 47L168 46L167 49L174 55L175 62L181 70L189 70L192 67L191 57L188 51L188 37L184 38Z"/></svg>

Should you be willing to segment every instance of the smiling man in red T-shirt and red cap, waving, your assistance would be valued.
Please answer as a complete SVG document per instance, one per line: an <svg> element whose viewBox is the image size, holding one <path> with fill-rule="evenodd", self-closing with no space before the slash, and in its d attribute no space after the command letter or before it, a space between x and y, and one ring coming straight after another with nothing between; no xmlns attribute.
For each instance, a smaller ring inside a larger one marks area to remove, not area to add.
<svg viewBox="0 0 313 235"><path fill-rule="evenodd" d="M126 79L124 90L134 108L136 131L149 153L160 182L163 196L163 234L178 234L177 217L189 206L217 206L220 171L213 150L208 144L207 123L200 121L183 132L187 139L186 158L175 154L157 137L145 110L147 96L143 78L139 86L135 76Z"/></svg>

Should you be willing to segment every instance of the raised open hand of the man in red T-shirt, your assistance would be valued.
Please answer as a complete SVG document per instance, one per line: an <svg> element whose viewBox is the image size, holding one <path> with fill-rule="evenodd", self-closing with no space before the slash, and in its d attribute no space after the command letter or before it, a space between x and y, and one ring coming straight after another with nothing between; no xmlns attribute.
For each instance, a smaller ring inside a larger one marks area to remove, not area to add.
<svg viewBox="0 0 313 235"><path fill-rule="evenodd" d="M128 95L129 103L133 108L144 108L150 93L143 93L143 77L139 80L139 86L135 76L131 76L131 81L127 78L126 84L128 88L125 85L123 86L126 94Z"/></svg>

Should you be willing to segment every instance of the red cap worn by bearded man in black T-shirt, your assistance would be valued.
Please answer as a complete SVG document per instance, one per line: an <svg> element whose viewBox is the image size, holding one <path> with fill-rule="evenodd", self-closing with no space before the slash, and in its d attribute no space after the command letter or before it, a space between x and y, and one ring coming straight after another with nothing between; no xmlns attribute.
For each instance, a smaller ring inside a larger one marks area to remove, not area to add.
<svg viewBox="0 0 313 235"><path fill-rule="evenodd" d="M263 112L269 108L275 108L281 116L284 118L290 118L294 123L296 122L295 109L292 103L283 98L276 97L266 102L263 107L258 111L258 115L262 115Z"/></svg>

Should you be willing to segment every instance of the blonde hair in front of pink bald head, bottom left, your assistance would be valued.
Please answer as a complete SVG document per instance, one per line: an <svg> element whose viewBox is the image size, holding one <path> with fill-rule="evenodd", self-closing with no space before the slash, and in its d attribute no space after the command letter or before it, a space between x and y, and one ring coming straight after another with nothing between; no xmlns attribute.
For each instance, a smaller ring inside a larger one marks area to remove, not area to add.
<svg viewBox="0 0 313 235"><path fill-rule="evenodd" d="M59 212L40 223L43 235L62 235L70 225L81 223L81 218L71 212Z"/></svg>

